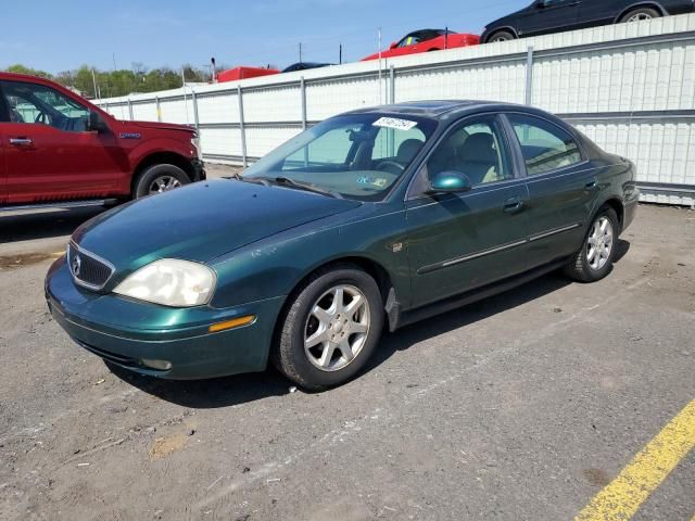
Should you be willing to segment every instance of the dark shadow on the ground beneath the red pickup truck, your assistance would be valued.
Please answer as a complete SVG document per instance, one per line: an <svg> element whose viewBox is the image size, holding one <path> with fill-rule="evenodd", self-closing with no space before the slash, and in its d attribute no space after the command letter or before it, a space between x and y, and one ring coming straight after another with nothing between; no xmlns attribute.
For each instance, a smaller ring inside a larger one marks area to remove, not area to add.
<svg viewBox="0 0 695 521"><path fill-rule="evenodd" d="M83 223L103 213L103 206L0 212L0 244L70 236Z"/></svg>

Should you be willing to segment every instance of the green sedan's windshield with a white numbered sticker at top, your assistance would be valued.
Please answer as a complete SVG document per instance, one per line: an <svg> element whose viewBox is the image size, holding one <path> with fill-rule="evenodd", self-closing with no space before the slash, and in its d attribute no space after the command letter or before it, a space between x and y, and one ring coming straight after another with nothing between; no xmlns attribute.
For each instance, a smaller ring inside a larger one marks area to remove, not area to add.
<svg viewBox="0 0 695 521"><path fill-rule="evenodd" d="M243 179L381 201L435 128L433 119L404 115L333 117L266 155Z"/></svg>

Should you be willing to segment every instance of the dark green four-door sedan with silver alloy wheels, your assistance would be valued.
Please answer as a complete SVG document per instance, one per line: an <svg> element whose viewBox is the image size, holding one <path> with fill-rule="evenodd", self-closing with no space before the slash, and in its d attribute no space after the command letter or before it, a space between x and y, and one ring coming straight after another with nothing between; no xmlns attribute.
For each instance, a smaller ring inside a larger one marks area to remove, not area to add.
<svg viewBox="0 0 695 521"><path fill-rule="evenodd" d="M429 101L329 118L242 176L119 206L46 279L55 320L166 379L364 369L384 329L555 269L609 274L635 167L527 106Z"/></svg>

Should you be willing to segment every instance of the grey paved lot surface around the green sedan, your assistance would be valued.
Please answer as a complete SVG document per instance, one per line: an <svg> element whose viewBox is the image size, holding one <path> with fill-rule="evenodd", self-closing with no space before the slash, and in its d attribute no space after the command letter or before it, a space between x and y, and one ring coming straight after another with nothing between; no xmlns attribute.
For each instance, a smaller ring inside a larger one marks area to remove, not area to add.
<svg viewBox="0 0 695 521"><path fill-rule="evenodd" d="M156 381L73 344L42 282L96 212L0 215L3 520L569 520L695 398L693 212L643 206L606 280L388 334L320 394L271 370ZM691 520L693 483L691 453L635 519Z"/></svg>

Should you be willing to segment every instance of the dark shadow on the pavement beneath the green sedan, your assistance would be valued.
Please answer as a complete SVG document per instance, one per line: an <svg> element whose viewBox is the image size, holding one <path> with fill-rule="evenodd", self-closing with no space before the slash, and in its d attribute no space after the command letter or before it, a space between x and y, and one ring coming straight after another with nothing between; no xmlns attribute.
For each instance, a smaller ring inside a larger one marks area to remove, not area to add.
<svg viewBox="0 0 695 521"><path fill-rule="evenodd" d="M620 240L616 262L628 253L630 243ZM372 371L391 356L413 345L470 323L493 317L507 309L532 302L565 288L572 282L560 272L552 272L523 285L509 290L459 309L445 313L435 319L407 326L394 333L387 333L362 374ZM274 368L262 373L240 374L213 380L168 381L132 373L108 364L111 371L125 382L161 399L185 407L210 409L289 394L293 385Z"/></svg>

